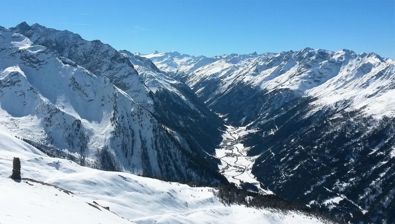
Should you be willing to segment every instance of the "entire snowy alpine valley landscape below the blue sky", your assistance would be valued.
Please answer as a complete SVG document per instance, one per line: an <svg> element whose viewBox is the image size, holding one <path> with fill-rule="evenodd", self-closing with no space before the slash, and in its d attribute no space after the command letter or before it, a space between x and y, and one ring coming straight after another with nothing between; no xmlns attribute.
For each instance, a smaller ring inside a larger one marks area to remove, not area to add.
<svg viewBox="0 0 395 224"><path fill-rule="evenodd" d="M395 223L395 61L142 54L0 26L0 189L45 195L25 219L6 197L10 223L42 223L37 206L48 223L73 206L84 223Z"/></svg>

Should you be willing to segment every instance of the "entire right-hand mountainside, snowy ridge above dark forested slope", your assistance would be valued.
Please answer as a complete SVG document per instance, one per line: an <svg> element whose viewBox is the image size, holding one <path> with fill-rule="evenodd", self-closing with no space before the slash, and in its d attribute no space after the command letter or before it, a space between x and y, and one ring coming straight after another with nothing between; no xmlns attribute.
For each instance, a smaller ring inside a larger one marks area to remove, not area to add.
<svg viewBox="0 0 395 224"><path fill-rule="evenodd" d="M311 48L232 56L177 78L251 130L264 187L354 223L394 222L395 62Z"/></svg>

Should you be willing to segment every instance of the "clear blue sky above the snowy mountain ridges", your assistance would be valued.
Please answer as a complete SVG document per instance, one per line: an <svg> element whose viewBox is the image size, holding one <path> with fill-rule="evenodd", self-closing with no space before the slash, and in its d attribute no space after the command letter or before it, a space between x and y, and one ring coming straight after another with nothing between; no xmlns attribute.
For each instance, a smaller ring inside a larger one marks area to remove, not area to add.
<svg viewBox="0 0 395 224"><path fill-rule="evenodd" d="M39 23L132 52L214 56L310 47L395 59L395 0L0 0L0 9L6 28Z"/></svg>

